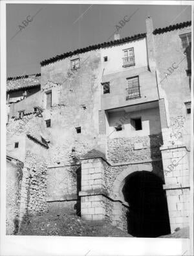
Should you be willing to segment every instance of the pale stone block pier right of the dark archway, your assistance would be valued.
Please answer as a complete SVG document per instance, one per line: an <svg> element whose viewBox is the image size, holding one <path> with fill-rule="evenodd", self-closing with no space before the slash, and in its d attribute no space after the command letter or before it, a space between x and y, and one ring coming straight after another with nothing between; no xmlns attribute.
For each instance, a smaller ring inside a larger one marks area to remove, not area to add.
<svg viewBox="0 0 194 256"><path fill-rule="evenodd" d="M171 232L189 225L189 166L186 147L162 146L162 161Z"/></svg>

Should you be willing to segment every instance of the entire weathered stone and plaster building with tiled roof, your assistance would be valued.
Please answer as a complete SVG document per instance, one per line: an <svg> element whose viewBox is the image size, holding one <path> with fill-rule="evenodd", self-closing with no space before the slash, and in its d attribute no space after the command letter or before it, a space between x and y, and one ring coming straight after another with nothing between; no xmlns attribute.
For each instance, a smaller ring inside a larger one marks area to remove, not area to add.
<svg viewBox="0 0 194 256"><path fill-rule="evenodd" d="M135 237L189 225L191 21L146 29L43 60L11 101L8 234L51 208Z"/></svg>

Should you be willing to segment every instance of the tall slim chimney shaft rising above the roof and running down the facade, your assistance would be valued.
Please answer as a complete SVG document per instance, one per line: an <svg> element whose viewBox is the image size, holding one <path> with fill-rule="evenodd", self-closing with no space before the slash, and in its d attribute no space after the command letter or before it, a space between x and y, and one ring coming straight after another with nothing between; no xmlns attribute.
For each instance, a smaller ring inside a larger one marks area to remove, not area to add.
<svg viewBox="0 0 194 256"><path fill-rule="evenodd" d="M146 18L146 32L147 32L147 55L148 55L148 66L151 72L156 70L155 60L155 41L153 35L153 21L150 16Z"/></svg>

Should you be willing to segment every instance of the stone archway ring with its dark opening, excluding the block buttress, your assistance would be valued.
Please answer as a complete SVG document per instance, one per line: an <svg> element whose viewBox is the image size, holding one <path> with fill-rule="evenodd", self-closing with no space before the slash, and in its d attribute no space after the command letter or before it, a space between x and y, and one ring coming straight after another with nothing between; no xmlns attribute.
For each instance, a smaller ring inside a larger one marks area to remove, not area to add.
<svg viewBox="0 0 194 256"><path fill-rule="evenodd" d="M114 205L113 223L127 229L134 237L167 235L170 229L163 182L152 172L151 166L145 167L133 166L124 170L114 181L117 203Z"/></svg>

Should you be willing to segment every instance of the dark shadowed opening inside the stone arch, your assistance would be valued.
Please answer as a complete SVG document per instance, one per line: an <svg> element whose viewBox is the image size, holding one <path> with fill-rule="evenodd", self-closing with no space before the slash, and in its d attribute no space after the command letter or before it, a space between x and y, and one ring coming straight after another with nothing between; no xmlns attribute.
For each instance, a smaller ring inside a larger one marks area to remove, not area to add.
<svg viewBox="0 0 194 256"><path fill-rule="evenodd" d="M134 237L160 237L170 233L162 180L151 172L134 172L122 189L129 203L127 231Z"/></svg>

